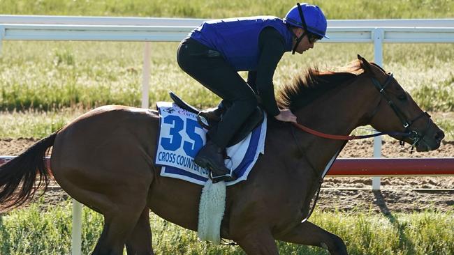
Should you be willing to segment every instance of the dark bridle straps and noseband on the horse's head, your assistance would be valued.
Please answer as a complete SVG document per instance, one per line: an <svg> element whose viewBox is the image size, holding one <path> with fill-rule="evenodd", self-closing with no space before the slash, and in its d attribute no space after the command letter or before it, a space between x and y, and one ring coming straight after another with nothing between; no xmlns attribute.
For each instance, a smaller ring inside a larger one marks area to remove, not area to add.
<svg viewBox="0 0 454 255"><path fill-rule="evenodd" d="M393 109L395 115L397 116L397 118L399 118L400 122L402 123L402 126L405 129L404 132L401 134L402 135L402 139L399 139L400 145L403 146L404 145L404 137L408 137L411 141L413 141L413 143L411 144L411 148L413 148L414 146L418 145L419 141L424 140L423 138L425 137L425 134L426 134L427 130L429 130L430 123L432 122L432 118L431 118L431 116L429 114L427 114L427 111L424 111L423 113L419 114L416 118L413 118L413 120L408 121L407 118L402 113L402 111L400 110L400 108L397 107L397 105L395 105L393 100L390 100L390 97L388 96L388 93L386 93L385 88L386 88L386 86L388 86L388 84L390 84L390 82L393 79L394 79L393 78L393 73L392 72L388 72L388 78L386 78L386 82L383 85L381 85L380 82L377 79L375 79L374 77L372 77L372 84L374 84L375 88L381 94L381 96L382 96L381 99L384 98L386 100L386 102L388 102L388 105L391 107L391 109ZM380 103L381 103L381 100L379 102L379 105L380 105ZM376 110L374 110L374 113L372 114L371 119L375 115L379 105L377 105ZM419 133L416 130L411 130L410 129L411 125L413 125L413 123L415 123L419 118L421 118L423 116L427 116L427 118L428 118L427 125L426 125L425 129L423 130L423 132Z"/></svg>

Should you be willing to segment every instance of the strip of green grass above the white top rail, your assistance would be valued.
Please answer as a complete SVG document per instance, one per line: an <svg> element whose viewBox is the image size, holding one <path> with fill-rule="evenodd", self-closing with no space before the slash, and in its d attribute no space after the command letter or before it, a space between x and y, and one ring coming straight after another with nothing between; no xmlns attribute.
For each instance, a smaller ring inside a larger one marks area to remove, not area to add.
<svg viewBox="0 0 454 255"><path fill-rule="evenodd" d="M314 0L329 19L453 17L450 0ZM284 17L295 1L182 1L182 0L0 0L0 13L21 15L100 15L134 17Z"/></svg>

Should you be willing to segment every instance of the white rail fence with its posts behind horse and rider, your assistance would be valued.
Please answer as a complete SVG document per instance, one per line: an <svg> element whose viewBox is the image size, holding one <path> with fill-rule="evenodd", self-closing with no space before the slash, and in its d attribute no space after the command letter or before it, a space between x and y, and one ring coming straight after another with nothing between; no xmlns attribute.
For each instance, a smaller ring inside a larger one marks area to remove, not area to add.
<svg viewBox="0 0 454 255"><path fill-rule="evenodd" d="M0 15L0 54L3 40L143 41L142 107L149 107L151 49L149 42L177 42L201 24L200 19L138 17L68 17ZM321 42L374 43L374 62L383 65L383 43L453 43L454 19L329 20ZM381 138L374 139L374 157L381 157ZM372 189L380 189L374 177ZM73 203L72 253L80 254L82 206Z"/></svg>

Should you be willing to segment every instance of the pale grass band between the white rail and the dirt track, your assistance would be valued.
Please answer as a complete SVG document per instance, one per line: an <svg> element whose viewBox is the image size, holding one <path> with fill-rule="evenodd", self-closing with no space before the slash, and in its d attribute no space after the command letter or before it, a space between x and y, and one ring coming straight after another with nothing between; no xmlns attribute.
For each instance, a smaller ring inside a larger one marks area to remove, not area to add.
<svg viewBox="0 0 454 255"><path fill-rule="evenodd" d="M219 98L177 66L176 48L175 42L152 43L150 106L170 100L168 90L197 107L216 105ZM99 105L140 107L142 50L138 42L4 42L0 137L41 138ZM325 43L303 56L285 54L274 84L291 82L309 67L344 65L358 53L373 59L369 44ZM395 73L420 107L435 116L447 139L453 139L452 45L390 44L385 45L383 58L384 68Z"/></svg>

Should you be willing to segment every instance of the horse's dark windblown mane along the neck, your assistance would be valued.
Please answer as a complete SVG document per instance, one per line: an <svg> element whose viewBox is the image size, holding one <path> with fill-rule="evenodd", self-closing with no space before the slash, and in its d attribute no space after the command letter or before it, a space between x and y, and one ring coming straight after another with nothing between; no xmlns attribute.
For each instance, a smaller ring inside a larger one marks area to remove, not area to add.
<svg viewBox="0 0 454 255"><path fill-rule="evenodd" d="M349 82L362 72L364 70L359 60L335 71L320 72L316 68L309 68L305 74L295 77L291 84L279 87L277 105L281 109L301 109L326 91Z"/></svg>

